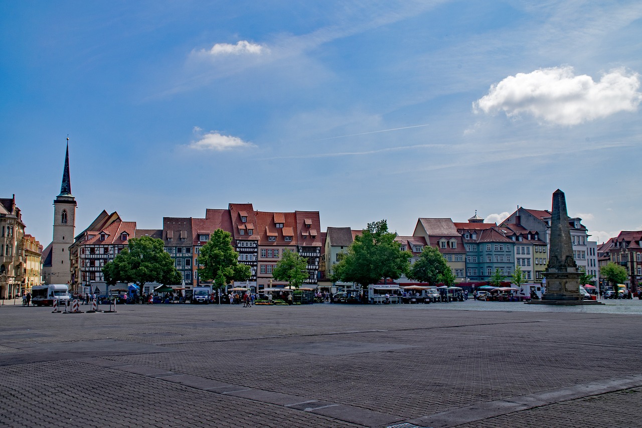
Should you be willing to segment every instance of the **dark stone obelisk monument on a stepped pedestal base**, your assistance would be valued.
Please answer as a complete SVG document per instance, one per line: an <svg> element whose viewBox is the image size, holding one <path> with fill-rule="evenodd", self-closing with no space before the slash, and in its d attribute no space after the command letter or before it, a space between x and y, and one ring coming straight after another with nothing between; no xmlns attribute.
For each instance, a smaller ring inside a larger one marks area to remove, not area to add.
<svg viewBox="0 0 642 428"><path fill-rule="evenodd" d="M584 300L580 294L580 276L573 257L571 229L566 212L566 197L557 189L553 193L551 215L551 237L549 242L548 266L544 271L546 291L537 303L540 305L600 305L594 300Z"/></svg>

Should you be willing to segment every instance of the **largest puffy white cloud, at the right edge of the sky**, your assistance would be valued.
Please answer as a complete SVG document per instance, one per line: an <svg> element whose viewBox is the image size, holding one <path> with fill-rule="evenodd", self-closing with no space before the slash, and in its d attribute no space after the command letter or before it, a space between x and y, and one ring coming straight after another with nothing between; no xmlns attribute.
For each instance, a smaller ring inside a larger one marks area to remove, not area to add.
<svg viewBox="0 0 642 428"><path fill-rule="evenodd" d="M640 76L613 69L599 82L573 73L573 67L539 69L508 76L473 103L474 112L508 117L530 114L548 123L577 125L621 111L637 111L642 101Z"/></svg>

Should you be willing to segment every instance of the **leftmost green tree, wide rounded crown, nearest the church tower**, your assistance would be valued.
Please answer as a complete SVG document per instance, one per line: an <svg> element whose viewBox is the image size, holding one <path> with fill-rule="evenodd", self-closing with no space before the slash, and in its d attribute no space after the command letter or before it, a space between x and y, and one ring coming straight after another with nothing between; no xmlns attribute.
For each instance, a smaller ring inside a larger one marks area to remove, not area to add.
<svg viewBox="0 0 642 428"><path fill-rule="evenodd" d="M174 261L163 250L161 239L141 236L129 240L112 262L103 266L103 274L108 285L117 282L133 282L140 288L146 283L158 282L164 285L178 284L182 280L174 267Z"/></svg>

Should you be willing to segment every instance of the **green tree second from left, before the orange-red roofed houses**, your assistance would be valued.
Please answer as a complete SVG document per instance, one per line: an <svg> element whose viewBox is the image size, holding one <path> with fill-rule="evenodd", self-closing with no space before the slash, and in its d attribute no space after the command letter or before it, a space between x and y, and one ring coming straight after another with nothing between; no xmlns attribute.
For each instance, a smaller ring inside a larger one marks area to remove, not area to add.
<svg viewBox="0 0 642 428"><path fill-rule="evenodd" d="M250 267L238 262L232 235L223 229L216 229L200 249L198 274L205 281L214 280L216 290L232 281L247 281L252 277Z"/></svg>

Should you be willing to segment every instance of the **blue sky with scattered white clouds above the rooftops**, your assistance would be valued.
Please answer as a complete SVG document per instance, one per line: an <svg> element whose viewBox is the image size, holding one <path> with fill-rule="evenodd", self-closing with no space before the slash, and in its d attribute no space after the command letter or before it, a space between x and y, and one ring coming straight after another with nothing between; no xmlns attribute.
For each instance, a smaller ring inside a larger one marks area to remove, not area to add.
<svg viewBox="0 0 642 428"><path fill-rule="evenodd" d="M566 193L592 240L642 229L642 3L0 3L0 197L51 242L117 211L252 202L328 226L501 221Z"/></svg>

